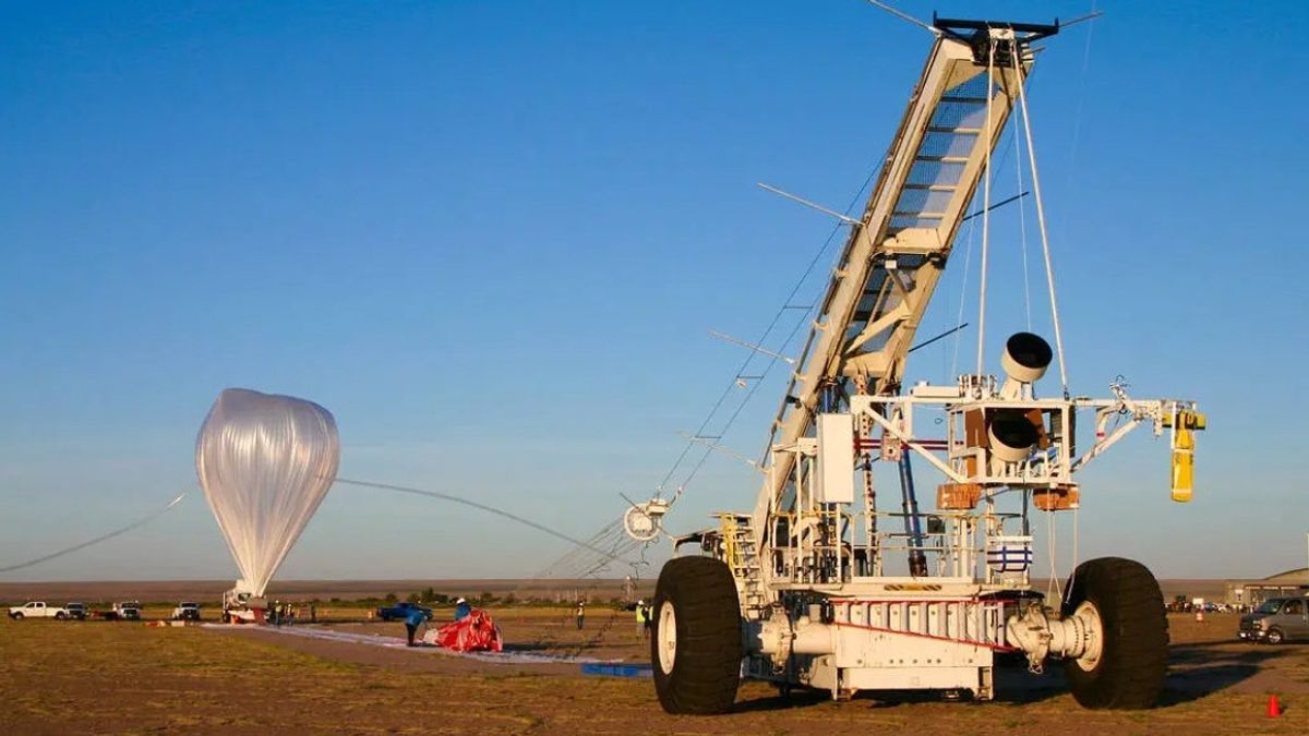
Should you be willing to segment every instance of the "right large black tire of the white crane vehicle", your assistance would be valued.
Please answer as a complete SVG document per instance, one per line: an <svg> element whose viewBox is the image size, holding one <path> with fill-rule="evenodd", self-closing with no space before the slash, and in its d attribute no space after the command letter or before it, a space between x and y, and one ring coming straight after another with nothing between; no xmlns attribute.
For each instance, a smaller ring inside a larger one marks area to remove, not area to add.
<svg viewBox="0 0 1309 736"><path fill-rule="evenodd" d="M1168 616L1158 581L1139 562L1103 557L1077 566L1068 584L1064 616L1089 602L1102 633L1097 660L1064 663L1073 698L1088 708L1155 707L1168 674Z"/></svg>

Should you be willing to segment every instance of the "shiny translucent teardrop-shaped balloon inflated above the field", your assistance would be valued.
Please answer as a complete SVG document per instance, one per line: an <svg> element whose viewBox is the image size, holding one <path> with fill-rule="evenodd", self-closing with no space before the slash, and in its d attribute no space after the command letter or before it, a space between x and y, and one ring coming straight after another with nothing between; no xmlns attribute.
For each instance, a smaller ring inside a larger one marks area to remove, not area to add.
<svg viewBox="0 0 1309 736"><path fill-rule="evenodd" d="M326 409L247 389L219 394L195 443L195 471L241 571L237 591L263 596L339 464Z"/></svg>

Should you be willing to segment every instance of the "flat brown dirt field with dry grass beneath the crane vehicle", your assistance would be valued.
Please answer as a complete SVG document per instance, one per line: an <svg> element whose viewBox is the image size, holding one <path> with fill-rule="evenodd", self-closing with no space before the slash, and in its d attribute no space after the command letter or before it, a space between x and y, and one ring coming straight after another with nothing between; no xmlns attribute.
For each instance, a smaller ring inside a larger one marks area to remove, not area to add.
<svg viewBox="0 0 1309 736"><path fill-rule="evenodd" d="M495 612L511 648L643 659L631 614L593 612L577 631L564 610ZM665 715L648 680L583 677L576 664L491 664L432 650L385 648L276 631L151 629L136 623L0 625L0 733L295 732L868 733L1309 732L1309 644L1233 640L1236 617L1170 617L1172 668L1160 707L1081 710L1056 672L999 674L991 703L932 697L778 698L745 684L725 716ZM398 623L327 630L399 636ZM1285 708L1264 715L1268 693Z"/></svg>

